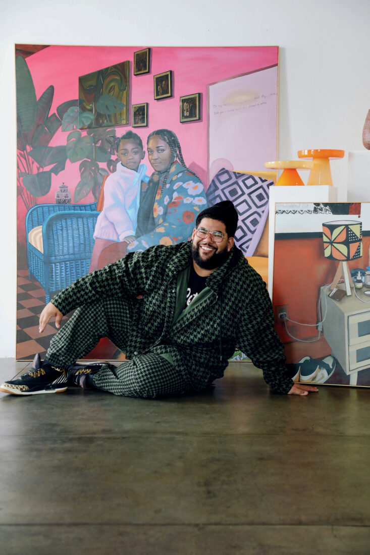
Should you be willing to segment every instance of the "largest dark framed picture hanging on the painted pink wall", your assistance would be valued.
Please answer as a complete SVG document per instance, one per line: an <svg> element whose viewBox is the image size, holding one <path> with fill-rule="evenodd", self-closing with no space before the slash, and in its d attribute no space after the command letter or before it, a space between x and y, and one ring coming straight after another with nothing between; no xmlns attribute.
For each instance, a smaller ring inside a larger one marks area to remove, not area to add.
<svg viewBox="0 0 370 555"><path fill-rule="evenodd" d="M128 124L129 75L121 62L78 78L79 129Z"/></svg>

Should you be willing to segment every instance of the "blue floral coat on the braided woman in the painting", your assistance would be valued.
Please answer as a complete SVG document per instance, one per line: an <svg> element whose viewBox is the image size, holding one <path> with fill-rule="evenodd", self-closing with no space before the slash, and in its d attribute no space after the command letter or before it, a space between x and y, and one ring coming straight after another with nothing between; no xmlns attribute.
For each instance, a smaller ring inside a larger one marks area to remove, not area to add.
<svg viewBox="0 0 370 555"><path fill-rule="evenodd" d="M146 227L149 229L142 226L142 234L128 245L128 253L146 250L153 245L175 245L189 240L197 214L207 207L203 184L179 162L172 164L166 184L163 176L154 171L142 195L139 213L141 211L142 217L146 212ZM149 200L151 196L154 196L154 202ZM138 221L139 217L140 214Z"/></svg>

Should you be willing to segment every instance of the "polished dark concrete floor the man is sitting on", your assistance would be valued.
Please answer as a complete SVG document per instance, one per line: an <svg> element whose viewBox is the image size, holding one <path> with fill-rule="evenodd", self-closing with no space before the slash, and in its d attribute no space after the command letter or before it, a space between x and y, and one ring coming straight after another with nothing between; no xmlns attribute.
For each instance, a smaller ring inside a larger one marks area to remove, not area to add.
<svg viewBox="0 0 370 555"><path fill-rule="evenodd" d="M370 553L368 388L276 395L233 362L197 395L0 393L0 417L4 555Z"/></svg>

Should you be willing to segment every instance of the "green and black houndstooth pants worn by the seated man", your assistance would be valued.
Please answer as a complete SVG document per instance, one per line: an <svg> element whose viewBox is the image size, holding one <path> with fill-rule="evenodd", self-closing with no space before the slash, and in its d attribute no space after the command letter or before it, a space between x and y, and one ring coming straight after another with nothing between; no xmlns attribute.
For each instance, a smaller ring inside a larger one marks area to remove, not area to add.
<svg viewBox="0 0 370 555"><path fill-rule="evenodd" d="M132 320L133 305L125 299L105 299L83 305L54 335L46 360L54 366L71 366L87 355L101 337L108 337L125 352ZM171 362L150 352L119 366L104 365L88 380L98 389L126 397L154 398L189 389L189 384Z"/></svg>

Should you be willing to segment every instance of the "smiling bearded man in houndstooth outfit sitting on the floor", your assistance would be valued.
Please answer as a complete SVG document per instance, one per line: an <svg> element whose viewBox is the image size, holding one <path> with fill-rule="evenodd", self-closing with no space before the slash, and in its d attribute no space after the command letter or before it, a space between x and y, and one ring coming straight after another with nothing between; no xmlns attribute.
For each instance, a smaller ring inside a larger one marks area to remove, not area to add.
<svg viewBox="0 0 370 555"><path fill-rule="evenodd" d="M198 214L191 241L130 253L79 278L41 313L40 332L77 309L44 362L35 357L31 372L0 390L34 395L77 384L144 398L201 391L223 376L237 348L277 392L317 391L287 374L266 284L234 245L237 225L234 205L223 201ZM101 337L130 360L76 365Z"/></svg>

